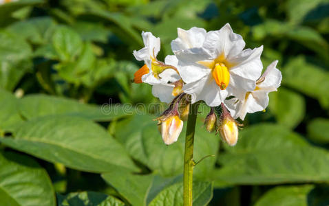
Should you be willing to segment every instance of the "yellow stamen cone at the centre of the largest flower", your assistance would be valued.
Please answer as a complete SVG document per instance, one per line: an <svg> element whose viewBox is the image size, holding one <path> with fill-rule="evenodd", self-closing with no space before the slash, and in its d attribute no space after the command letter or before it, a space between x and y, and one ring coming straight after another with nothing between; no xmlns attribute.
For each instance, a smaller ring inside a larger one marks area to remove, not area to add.
<svg viewBox="0 0 329 206"><path fill-rule="evenodd" d="M225 67L223 63L216 63L213 71L211 71L213 78L215 79L216 84L220 89L224 90L229 86L230 82L230 73L229 69Z"/></svg>

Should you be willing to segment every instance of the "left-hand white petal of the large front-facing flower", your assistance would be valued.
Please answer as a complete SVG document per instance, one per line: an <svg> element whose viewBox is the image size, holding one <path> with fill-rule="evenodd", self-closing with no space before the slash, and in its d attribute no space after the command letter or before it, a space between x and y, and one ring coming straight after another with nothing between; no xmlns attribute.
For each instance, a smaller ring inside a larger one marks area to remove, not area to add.
<svg viewBox="0 0 329 206"><path fill-rule="evenodd" d="M210 69L198 64L199 61L209 60L211 56L202 48L180 50L176 53L178 71L185 83L195 82L209 73Z"/></svg>

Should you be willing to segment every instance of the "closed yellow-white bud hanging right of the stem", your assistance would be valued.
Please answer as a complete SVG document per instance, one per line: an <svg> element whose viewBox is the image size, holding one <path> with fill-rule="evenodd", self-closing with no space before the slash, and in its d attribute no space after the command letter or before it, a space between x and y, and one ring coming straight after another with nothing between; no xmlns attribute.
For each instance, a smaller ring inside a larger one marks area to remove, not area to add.
<svg viewBox="0 0 329 206"><path fill-rule="evenodd" d="M220 122L220 136L223 141L226 141L229 146L235 146L237 144L237 136L239 130L237 128L237 122L231 117L226 117Z"/></svg>

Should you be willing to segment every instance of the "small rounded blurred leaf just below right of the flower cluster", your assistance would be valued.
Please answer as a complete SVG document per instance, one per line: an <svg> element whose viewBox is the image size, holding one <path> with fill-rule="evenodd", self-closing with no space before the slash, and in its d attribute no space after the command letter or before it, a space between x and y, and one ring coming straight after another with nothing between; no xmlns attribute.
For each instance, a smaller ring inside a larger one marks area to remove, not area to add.
<svg viewBox="0 0 329 206"><path fill-rule="evenodd" d="M302 95L279 88L277 92L270 93L269 98L268 106L279 124L295 128L304 118L306 105Z"/></svg>

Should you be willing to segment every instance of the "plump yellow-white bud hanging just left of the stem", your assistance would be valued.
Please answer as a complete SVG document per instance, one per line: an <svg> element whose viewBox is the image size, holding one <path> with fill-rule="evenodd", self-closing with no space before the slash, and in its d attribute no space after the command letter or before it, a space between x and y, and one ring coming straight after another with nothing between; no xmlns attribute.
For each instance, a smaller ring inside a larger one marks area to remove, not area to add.
<svg viewBox="0 0 329 206"><path fill-rule="evenodd" d="M183 121L178 115L171 115L161 122L161 135L165 144L173 144L182 132Z"/></svg>

